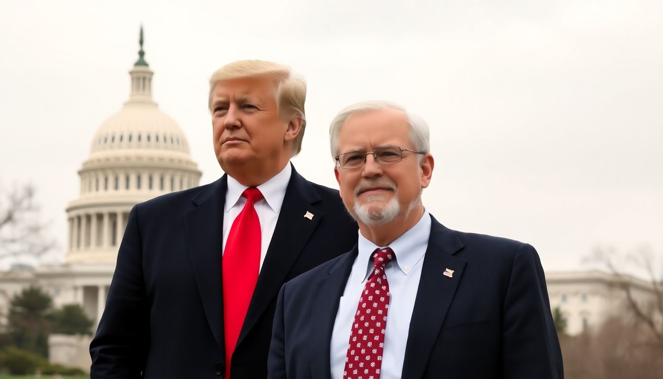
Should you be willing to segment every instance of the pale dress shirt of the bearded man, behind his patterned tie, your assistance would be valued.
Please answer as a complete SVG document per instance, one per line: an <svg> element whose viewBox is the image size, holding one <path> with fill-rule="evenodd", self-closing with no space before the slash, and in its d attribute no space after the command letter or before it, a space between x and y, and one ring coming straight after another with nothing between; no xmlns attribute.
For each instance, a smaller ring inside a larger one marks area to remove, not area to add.
<svg viewBox="0 0 663 379"><path fill-rule="evenodd" d="M400 378L405 359L405 344L410 330L410 319L414 309L421 268L428 248L430 237L430 216L426 210L422 218L410 230L392 242L389 247L394 251L396 262L391 261L385 268L389 282L389 312L385 330L381 379ZM339 301L336 320L331 333L331 378L342 379L345 368L345 356L350 340L352 322L357 312L359 296L373 270L372 253L377 246L359 232L359 254L352 265L352 271L345 284L343 297Z"/></svg>

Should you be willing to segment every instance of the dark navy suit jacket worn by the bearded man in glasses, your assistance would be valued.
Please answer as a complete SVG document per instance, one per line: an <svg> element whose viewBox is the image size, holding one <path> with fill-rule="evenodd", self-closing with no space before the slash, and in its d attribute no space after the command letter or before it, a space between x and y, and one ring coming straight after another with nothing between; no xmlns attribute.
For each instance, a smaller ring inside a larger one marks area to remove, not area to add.
<svg viewBox="0 0 663 379"><path fill-rule="evenodd" d="M536 250L455 232L431 218L409 334L402 336L402 378L562 378ZM355 245L282 287L269 378L330 378L331 331L356 257ZM455 270L453 277L442 275L446 268Z"/></svg>

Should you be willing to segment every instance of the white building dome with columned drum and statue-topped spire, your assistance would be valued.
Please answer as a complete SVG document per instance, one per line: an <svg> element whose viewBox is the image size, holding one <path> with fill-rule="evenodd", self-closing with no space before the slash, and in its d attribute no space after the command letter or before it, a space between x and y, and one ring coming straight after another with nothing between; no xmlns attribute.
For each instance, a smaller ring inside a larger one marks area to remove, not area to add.
<svg viewBox="0 0 663 379"><path fill-rule="evenodd" d="M78 171L80 196L67 206L70 264L115 264L131 207L200 182L184 132L152 100L143 29L140 45L129 100L97 129Z"/></svg>

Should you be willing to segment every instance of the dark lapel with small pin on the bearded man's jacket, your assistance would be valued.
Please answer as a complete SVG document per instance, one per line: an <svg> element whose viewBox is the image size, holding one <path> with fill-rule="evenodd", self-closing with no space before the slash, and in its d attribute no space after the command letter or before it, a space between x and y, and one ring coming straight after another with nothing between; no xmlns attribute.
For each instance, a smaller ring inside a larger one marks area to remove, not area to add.
<svg viewBox="0 0 663 379"><path fill-rule="evenodd" d="M410 320L403 379L423 376L465 267L465 261L453 256L463 243L453 230L430 217L430 239ZM454 270L453 277L443 275L447 268Z"/></svg>

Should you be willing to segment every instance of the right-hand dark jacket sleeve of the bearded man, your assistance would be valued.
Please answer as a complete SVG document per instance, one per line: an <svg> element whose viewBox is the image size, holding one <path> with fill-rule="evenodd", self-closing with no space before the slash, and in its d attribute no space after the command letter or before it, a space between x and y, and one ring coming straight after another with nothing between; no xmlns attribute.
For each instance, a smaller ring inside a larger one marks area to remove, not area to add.
<svg viewBox="0 0 663 379"><path fill-rule="evenodd" d="M514 256L502 312L504 377L564 378L546 278L528 244L520 245Z"/></svg>

